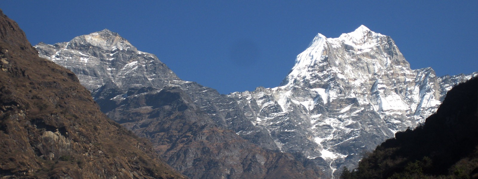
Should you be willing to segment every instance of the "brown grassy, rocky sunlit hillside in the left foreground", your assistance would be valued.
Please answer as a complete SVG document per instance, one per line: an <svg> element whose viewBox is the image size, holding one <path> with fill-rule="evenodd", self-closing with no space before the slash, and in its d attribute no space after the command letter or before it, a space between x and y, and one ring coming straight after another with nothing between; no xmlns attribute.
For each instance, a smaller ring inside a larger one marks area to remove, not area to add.
<svg viewBox="0 0 478 179"><path fill-rule="evenodd" d="M184 179L0 11L0 177Z"/></svg>

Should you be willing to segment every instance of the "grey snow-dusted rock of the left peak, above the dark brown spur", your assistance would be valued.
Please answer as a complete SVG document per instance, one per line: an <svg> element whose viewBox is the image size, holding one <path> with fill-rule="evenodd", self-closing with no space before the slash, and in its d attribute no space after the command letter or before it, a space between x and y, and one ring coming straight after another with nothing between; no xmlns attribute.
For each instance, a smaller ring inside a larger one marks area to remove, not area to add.
<svg viewBox="0 0 478 179"><path fill-rule="evenodd" d="M252 128L249 131L254 132L239 135L264 148L277 149L267 132L245 118L234 99L220 95L214 89L180 80L155 55L138 51L117 33L105 29L75 37L70 42L54 45L39 43L35 48L40 57L75 73L105 113L118 107L124 97L142 87L162 89L179 85L216 123L232 124L229 126L236 132Z"/></svg>

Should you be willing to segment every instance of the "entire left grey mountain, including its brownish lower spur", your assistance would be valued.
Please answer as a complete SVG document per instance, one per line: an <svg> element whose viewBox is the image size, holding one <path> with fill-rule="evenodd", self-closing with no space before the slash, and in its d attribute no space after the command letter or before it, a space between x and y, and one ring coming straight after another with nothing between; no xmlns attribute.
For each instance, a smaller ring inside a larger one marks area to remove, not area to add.
<svg viewBox="0 0 478 179"><path fill-rule="evenodd" d="M193 179L318 178L322 168L280 152L227 95L180 80L158 58L103 30L35 46L72 70L111 119L153 142L173 168ZM250 130L249 133L238 133Z"/></svg>

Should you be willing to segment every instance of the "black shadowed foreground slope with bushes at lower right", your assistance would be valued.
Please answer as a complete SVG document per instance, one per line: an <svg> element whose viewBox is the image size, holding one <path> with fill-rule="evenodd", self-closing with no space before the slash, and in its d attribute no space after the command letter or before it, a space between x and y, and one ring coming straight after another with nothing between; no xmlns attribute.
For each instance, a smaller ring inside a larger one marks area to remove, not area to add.
<svg viewBox="0 0 478 179"><path fill-rule="evenodd" d="M398 132L345 179L478 178L478 78L451 89L422 126Z"/></svg>

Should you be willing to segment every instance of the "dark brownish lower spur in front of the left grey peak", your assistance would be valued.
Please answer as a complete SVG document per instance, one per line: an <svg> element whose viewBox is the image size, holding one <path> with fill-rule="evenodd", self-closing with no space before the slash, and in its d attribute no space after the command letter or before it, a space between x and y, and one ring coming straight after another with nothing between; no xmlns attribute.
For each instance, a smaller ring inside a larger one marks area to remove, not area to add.
<svg viewBox="0 0 478 179"><path fill-rule="evenodd" d="M134 94L109 116L152 140L168 163L193 179L317 178L292 155L263 149L218 125L179 86ZM126 122L127 121L127 122ZM306 160L306 159L304 159Z"/></svg>

